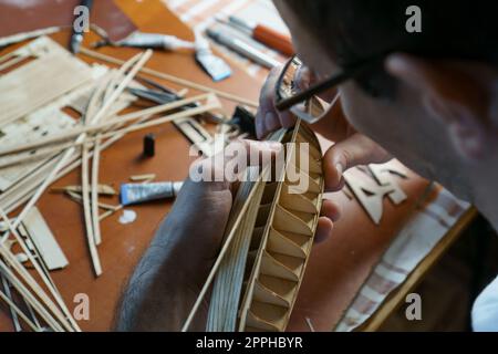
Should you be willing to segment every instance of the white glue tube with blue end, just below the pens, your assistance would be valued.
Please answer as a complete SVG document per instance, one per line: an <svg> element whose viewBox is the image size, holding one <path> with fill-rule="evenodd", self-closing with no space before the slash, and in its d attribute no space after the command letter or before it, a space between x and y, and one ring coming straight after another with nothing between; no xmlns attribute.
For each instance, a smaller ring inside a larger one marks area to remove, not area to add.
<svg viewBox="0 0 498 354"><path fill-rule="evenodd" d="M196 33L196 61L215 82L231 75L231 67L221 58L212 54L209 42L200 33Z"/></svg>

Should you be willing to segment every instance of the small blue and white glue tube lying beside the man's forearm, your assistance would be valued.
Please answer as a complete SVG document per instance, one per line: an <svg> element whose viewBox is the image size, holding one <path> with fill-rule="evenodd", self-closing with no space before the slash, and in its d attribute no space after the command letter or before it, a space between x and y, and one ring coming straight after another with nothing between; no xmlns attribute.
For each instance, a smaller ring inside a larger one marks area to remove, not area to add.
<svg viewBox="0 0 498 354"><path fill-rule="evenodd" d="M121 185L121 204L129 206L157 199L173 198L178 195L181 181L158 181L151 184Z"/></svg>

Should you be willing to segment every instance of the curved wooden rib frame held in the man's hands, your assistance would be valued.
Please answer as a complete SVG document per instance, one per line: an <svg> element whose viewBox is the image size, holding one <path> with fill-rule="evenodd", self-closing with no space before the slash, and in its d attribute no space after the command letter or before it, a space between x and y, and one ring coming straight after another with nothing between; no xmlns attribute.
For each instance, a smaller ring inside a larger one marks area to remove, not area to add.
<svg viewBox="0 0 498 354"><path fill-rule="evenodd" d="M287 144L283 180L251 183L253 189L262 185L263 190L256 192L257 198L250 201L235 231L230 225L239 215L230 215L227 230L236 236L215 281L208 331L282 332L289 322L311 252L324 181L320 144L304 124L298 123L280 140L309 143L309 174L301 171L309 179L308 189L304 194L290 192L287 167L297 165L301 170L302 166L299 158L292 158L298 155L297 144ZM247 184L242 183L240 188L246 188ZM238 199L247 194L236 196L235 208ZM242 246L248 239L250 246L245 249ZM245 267L242 279L240 267Z"/></svg>

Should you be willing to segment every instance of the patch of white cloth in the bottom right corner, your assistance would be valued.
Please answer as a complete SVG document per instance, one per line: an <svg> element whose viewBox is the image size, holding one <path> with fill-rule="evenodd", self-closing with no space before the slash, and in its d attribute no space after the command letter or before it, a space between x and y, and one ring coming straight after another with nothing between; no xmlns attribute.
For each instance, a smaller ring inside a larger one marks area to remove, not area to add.
<svg viewBox="0 0 498 354"><path fill-rule="evenodd" d="M473 329L476 332L498 332L498 277L474 302Z"/></svg>

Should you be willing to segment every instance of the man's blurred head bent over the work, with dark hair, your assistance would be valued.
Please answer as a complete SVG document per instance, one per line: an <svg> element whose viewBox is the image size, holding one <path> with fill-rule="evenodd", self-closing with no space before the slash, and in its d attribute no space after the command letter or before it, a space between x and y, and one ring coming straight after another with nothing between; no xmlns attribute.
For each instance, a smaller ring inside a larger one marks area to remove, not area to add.
<svg viewBox="0 0 498 354"><path fill-rule="evenodd" d="M274 2L320 76L391 53L339 87L356 129L460 196L473 197L478 174L498 178L498 2ZM419 33L406 30L409 6Z"/></svg>

